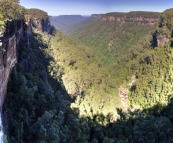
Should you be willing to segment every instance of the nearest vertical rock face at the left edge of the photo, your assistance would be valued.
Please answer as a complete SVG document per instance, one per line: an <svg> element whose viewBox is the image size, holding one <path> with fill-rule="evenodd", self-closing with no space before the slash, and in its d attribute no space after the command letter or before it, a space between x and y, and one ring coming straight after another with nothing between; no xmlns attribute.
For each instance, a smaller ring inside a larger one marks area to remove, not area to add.
<svg viewBox="0 0 173 143"><path fill-rule="evenodd" d="M0 50L0 108L7 90L10 71L17 62L17 47L24 35L23 21L8 22Z"/></svg>

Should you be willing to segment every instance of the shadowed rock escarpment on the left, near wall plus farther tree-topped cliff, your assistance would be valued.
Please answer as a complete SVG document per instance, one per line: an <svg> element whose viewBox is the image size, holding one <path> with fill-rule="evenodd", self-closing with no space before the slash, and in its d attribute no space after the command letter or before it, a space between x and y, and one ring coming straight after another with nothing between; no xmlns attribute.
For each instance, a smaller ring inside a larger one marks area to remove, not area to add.
<svg viewBox="0 0 173 143"><path fill-rule="evenodd" d="M50 25L47 13L34 9L28 12L30 16L25 16L19 20L6 21L5 26L1 26L0 31L0 107L2 107L7 90L10 71L17 63L18 47L20 42L27 42L28 35L32 33L32 27L39 31L52 33L53 27ZM45 14L45 15L44 15Z"/></svg>

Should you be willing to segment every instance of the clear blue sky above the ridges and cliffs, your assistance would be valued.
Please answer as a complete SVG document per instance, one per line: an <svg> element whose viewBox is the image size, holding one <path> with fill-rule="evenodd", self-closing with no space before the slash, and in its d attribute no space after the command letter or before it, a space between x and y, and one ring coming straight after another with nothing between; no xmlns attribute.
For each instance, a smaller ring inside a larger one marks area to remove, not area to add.
<svg viewBox="0 0 173 143"><path fill-rule="evenodd" d="M173 0L20 0L25 8L38 8L49 15L91 15L108 12L156 11L173 8Z"/></svg>

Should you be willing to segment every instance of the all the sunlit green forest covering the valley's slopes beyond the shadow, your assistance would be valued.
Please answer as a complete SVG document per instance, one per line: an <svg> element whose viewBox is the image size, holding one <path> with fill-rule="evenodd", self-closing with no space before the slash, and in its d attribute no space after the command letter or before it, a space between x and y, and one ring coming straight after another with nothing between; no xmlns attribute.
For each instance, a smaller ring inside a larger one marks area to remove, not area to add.
<svg viewBox="0 0 173 143"><path fill-rule="evenodd" d="M55 57L50 69L55 78L62 76L67 92L75 96L71 107L91 118L111 113L116 120L119 107L147 110L159 101L166 105L171 82L165 76L160 78L160 73L166 74L170 67L167 55L171 56L171 48L153 47L153 28L136 22L97 20L73 35L88 47L66 44L64 35L57 33L52 38L53 48L47 50ZM57 74L59 65L63 69Z"/></svg>

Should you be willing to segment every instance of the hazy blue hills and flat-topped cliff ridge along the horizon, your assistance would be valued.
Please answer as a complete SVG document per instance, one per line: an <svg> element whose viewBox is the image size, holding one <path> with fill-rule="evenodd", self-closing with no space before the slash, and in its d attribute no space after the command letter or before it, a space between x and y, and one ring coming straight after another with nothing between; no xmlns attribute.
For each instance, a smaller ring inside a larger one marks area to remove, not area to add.
<svg viewBox="0 0 173 143"><path fill-rule="evenodd" d="M109 12L105 14L60 15L50 17L51 24L64 34L71 35L80 31L88 24L96 21L115 21L124 24L126 22L137 22L138 24L154 25L160 16L159 12L131 11L131 12Z"/></svg>

